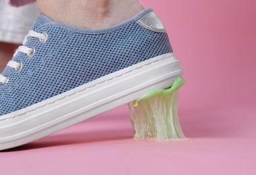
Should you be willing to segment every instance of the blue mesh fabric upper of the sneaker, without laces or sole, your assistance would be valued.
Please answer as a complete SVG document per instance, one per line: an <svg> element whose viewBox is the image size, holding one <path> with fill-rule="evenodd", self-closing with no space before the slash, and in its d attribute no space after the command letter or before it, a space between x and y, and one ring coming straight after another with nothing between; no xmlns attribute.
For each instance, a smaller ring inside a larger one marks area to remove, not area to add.
<svg viewBox="0 0 256 175"><path fill-rule="evenodd" d="M0 85L0 115L172 52L167 34L147 30L135 20L113 31L93 33L40 15L33 29L46 32L49 39L42 44L38 38L29 38L25 45L35 48L34 57L20 52L13 60L23 63L22 70L7 67L3 71L9 82Z"/></svg>

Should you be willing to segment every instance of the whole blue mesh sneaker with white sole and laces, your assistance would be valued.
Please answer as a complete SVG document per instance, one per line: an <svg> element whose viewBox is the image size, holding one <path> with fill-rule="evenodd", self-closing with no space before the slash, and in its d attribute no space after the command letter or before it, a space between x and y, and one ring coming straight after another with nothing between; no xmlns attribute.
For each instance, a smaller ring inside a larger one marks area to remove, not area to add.
<svg viewBox="0 0 256 175"><path fill-rule="evenodd" d="M182 73L152 9L104 30L41 14L0 75L0 150L167 88Z"/></svg>

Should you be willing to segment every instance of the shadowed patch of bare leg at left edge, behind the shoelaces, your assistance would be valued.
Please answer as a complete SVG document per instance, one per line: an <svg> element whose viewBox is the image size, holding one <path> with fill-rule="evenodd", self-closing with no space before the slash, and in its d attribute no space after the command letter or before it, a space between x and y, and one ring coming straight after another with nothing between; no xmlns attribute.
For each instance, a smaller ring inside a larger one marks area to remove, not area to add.
<svg viewBox="0 0 256 175"><path fill-rule="evenodd" d="M0 73L6 67L7 63L13 57L13 52L17 44L0 42Z"/></svg>

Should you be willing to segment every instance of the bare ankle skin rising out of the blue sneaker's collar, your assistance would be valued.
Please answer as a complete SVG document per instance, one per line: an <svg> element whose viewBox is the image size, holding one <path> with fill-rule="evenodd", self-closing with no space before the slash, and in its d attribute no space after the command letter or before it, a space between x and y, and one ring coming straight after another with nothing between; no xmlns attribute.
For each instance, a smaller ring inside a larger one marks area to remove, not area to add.
<svg viewBox="0 0 256 175"><path fill-rule="evenodd" d="M56 22L89 29L115 26L143 9L137 0L37 0L37 4Z"/></svg>

